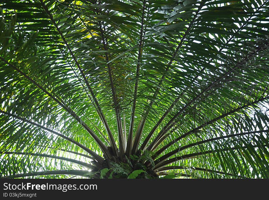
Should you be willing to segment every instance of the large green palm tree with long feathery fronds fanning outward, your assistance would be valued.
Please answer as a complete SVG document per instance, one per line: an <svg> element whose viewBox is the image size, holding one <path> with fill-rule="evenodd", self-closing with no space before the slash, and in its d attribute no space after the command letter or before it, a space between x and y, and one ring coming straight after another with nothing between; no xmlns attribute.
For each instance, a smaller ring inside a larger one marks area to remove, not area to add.
<svg viewBox="0 0 269 200"><path fill-rule="evenodd" d="M2 178L269 178L268 0L0 5Z"/></svg>

